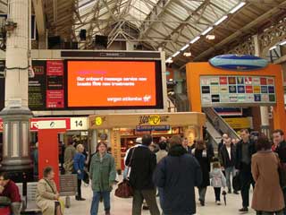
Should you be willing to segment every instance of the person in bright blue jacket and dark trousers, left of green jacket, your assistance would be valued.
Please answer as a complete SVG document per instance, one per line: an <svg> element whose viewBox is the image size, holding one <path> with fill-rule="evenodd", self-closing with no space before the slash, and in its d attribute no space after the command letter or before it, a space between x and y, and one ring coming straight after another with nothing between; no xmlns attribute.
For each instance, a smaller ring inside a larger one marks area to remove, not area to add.
<svg viewBox="0 0 286 215"><path fill-rule="evenodd" d="M77 201L85 201L85 199L81 197L81 180L83 180L84 177L84 165L86 162L86 158L83 155L83 151L83 145L79 144L77 146L77 152L73 157L73 168L75 173L78 174L78 194L75 197Z"/></svg>

